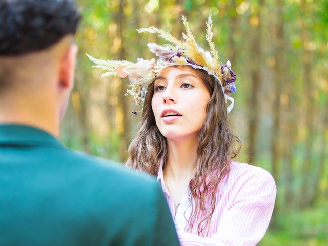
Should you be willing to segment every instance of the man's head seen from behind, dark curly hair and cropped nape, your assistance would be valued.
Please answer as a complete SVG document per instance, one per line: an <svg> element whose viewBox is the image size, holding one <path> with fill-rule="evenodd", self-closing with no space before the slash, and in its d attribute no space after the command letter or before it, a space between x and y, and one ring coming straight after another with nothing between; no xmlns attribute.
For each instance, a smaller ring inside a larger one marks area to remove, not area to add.
<svg viewBox="0 0 328 246"><path fill-rule="evenodd" d="M61 118L73 86L79 20L73 0L0 0L1 108L54 108Z"/></svg>

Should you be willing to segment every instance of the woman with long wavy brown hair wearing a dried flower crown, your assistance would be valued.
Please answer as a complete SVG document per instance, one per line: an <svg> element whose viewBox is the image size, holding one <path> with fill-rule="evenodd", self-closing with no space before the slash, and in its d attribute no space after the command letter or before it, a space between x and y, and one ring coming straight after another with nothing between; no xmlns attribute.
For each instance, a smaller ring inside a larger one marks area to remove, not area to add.
<svg viewBox="0 0 328 246"><path fill-rule="evenodd" d="M197 45L184 17L183 23L182 42L154 27L139 30L175 45L149 44L157 61L90 58L106 75L129 76L128 93L144 104L127 165L157 176L181 244L256 245L270 222L275 183L267 171L232 160L240 149L228 121L236 75L229 62L219 64L211 16L211 53Z"/></svg>

